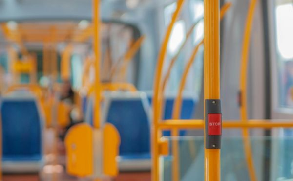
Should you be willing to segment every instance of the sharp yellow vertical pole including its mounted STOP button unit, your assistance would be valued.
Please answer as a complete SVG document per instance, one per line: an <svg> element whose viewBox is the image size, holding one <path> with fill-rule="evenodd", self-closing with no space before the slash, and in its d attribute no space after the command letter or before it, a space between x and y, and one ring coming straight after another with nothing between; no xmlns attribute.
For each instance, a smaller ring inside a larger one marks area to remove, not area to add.
<svg viewBox="0 0 293 181"><path fill-rule="evenodd" d="M220 181L220 8L219 0L204 0L205 181ZM212 115L215 115L212 116ZM211 116L211 117L210 117Z"/></svg>

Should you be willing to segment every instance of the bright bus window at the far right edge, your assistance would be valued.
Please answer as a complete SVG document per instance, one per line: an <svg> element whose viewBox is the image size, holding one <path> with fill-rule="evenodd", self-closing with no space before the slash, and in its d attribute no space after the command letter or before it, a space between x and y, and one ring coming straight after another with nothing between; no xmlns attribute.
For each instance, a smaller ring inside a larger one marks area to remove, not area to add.
<svg viewBox="0 0 293 181"><path fill-rule="evenodd" d="M293 108L293 3L275 1L279 107Z"/></svg>

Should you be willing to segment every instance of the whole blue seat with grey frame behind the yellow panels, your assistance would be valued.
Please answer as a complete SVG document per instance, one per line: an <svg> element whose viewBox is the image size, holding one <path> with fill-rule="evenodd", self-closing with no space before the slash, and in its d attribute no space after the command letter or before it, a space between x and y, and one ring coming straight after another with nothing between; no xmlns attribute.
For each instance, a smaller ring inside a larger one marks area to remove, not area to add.
<svg viewBox="0 0 293 181"><path fill-rule="evenodd" d="M91 103L92 105L92 103ZM92 106L89 106L92 107ZM113 124L121 137L120 170L143 170L141 161L150 168L150 106L142 92L111 92L105 94L104 121ZM92 109L90 109L92 110ZM92 125L92 111L87 120ZM127 162L127 165L123 162ZM131 162L131 163L130 163ZM132 164L133 167L129 167ZM126 165L123 168L121 165Z"/></svg>

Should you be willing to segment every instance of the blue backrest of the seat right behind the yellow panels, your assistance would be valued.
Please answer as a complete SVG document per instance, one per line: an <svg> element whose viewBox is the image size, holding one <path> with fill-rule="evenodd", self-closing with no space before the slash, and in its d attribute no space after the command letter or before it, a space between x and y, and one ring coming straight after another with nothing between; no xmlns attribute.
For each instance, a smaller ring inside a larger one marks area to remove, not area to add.
<svg viewBox="0 0 293 181"><path fill-rule="evenodd" d="M106 120L119 131L121 156L150 152L149 118L144 106L140 97L110 101Z"/></svg>

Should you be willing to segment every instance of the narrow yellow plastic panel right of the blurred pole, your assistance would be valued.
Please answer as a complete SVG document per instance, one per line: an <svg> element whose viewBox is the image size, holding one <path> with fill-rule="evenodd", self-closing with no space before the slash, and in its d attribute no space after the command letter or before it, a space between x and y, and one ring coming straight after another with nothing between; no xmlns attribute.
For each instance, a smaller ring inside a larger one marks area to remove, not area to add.
<svg viewBox="0 0 293 181"><path fill-rule="evenodd" d="M109 123L106 123L103 130L103 168L107 176L118 175L118 164L116 157L119 154L120 135L117 129Z"/></svg>

